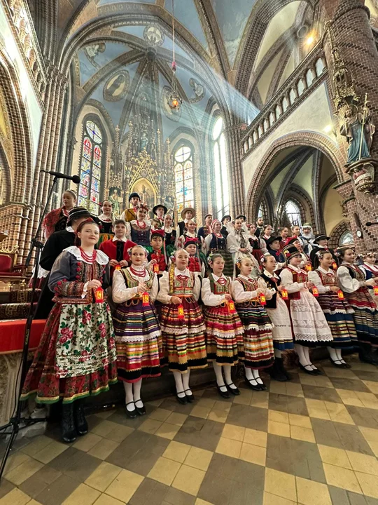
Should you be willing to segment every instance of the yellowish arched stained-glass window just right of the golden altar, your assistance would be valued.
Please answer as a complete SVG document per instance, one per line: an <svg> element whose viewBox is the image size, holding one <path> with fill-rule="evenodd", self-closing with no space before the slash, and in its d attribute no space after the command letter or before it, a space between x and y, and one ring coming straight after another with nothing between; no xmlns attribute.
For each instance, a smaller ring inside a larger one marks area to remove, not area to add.
<svg viewBox="0 0 378 505"><path fill-rule="evenodd" d="M174 181L179 213L185 207L194 207L193 152L188 145L179 147L174 153Z"/></svg>

